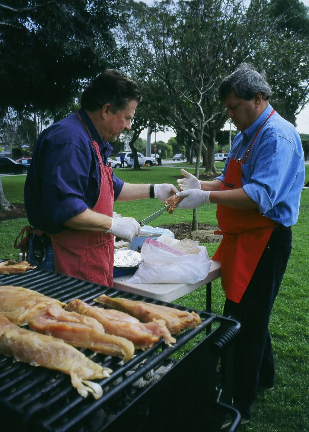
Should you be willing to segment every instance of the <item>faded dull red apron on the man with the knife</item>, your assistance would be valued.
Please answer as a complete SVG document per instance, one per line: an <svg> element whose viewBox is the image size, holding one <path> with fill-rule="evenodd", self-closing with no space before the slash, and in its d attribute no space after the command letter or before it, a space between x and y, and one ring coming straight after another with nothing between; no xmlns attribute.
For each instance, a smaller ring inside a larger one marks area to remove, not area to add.
<svg viewBox="0 0 309 432"><path fill-rule="evenodd" d="M91 139L91 144L99 159L101 172L100 194L93 211L113 216L114 188L112 170L102 161L99 146L92 140L82 118L77 114ZM101 285L113 285L114 236L99 231L66 229L50 235L54 251L55 269L64 273Z"/></svg>

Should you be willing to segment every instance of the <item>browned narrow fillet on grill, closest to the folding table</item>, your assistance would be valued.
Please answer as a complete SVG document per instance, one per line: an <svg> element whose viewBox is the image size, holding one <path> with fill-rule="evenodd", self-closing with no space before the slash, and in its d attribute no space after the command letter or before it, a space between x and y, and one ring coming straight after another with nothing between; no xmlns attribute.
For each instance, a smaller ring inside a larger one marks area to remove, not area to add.
<svg viewBox="0 0 309 432"><path fill-rule="evenodd" d="M166 323L166 327L171 334L179 334L181 330L189 327L196 327L201 324L201 318L195 312L180 311L176 308L167 306L155 305L153 303L139 302L118 298L111 298L107 295L100 295L95 302L117 309L118 311L126 312L133 317L149 322L155 319L162 319Z"/></svg>

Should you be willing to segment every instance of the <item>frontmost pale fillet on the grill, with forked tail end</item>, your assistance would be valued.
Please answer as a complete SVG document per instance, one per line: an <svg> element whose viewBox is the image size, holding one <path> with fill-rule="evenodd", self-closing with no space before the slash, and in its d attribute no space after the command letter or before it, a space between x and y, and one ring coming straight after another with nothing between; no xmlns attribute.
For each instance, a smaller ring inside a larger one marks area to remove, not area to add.
<svg viewBox="0 0 309 432"><path fill-rule="evenodd" d="M106 378L113 372L88 359L63 340L20 328L2 314L0 354L70 375L73 387L82 397L92 393L95 399L99 399L102 396L101 386L88 380Z"/></svg>

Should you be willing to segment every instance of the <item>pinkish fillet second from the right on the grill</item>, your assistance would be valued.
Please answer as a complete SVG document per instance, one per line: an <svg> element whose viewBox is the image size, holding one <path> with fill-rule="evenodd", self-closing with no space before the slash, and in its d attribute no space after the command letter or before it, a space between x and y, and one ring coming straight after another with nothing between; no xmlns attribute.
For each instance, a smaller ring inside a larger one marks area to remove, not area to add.
<svg viewBox="0 0 309 432"><path fill-rule="evenodd" d="M143 324L124 312L90 306L79 299L71 300L66 305L66 310L95 318L103 325L107 333L131 340L136 348L148 348L158 342L161 337L164 338L167 345L176 342L165 326L164 320L154 320Z"/></svg>

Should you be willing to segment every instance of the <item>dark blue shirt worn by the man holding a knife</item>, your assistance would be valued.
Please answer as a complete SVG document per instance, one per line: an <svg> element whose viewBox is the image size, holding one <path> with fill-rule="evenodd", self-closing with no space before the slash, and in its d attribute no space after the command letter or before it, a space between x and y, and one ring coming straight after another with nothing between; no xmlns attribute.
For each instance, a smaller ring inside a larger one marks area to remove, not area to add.
<svg viewBox="0 0 309 432"><path fill-rule="evenodd" d="M102 140L83 109L79 114L106 164L113 148ZM112 176L117 200L123 181L114 173ZM30 224L49 234L65 230L63 222L95 206L100 182L98 156L77 115L47 127L35 143L25 182L25 207Z"/></svg>

